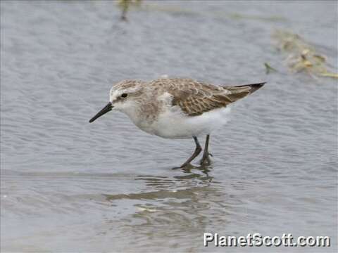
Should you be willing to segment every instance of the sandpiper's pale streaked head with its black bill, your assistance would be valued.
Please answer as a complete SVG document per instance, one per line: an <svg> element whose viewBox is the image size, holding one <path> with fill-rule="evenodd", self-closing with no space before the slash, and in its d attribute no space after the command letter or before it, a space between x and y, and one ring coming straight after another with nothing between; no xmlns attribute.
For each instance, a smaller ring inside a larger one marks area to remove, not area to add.
<svg viewBox="0 0 338 253"><path fill-rule="evenodd" d="M109 91L109 103L89 122L94 122L95 119L111 110L119 110L127 115L132 114L142 98L142 84L141 81L125 80L113 85Z"/></svg>

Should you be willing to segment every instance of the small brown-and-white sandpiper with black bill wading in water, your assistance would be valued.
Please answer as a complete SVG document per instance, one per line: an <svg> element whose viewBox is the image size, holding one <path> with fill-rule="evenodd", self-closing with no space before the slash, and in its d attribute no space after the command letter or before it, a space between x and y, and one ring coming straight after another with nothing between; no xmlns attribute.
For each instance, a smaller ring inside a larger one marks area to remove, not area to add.
<svg viewBox="0 0 338 253"><path fill-rule="evenodd" d="M196 148L181 168L194 160L202 148L198 136L206 135L200 164L210 164L208 145L215 126L227 117L227 105L260 89L265 82L241 86L215 86L193 79L160 78L151 82L125 80L111 88L109 103L89 122L118 110L139 129L163 138L194 138Z"/></svg>

